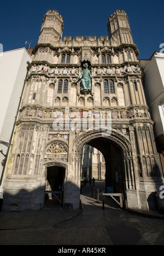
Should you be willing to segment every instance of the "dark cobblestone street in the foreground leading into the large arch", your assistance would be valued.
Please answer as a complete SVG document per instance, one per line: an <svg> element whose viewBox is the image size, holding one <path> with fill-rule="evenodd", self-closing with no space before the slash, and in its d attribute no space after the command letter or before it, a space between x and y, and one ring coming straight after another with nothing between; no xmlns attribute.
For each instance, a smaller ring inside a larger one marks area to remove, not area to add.
<svg viewBox="0 0 164 256"><path fill-rule="evenodd" d="M84 189L87 194L89 184ZM163 219L137 216L108 205L103 210L102 203L85 195L81 202L81 213L65 222L0 230L0 245L164 245Z"/></svg>

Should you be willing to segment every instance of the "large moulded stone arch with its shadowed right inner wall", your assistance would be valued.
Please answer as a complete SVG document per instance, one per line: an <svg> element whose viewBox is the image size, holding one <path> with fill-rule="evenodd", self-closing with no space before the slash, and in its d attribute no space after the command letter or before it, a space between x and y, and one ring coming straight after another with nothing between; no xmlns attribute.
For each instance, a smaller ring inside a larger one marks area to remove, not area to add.
<svg viewBox="0 0 164 256"><path fill-rule="evenodd" d="M92 130L74 139L74 168L80 177L80 152L85 144L97 148L106 160L106 188L113 186L115 193L124 194L125 208L139 208L136 170L130 140L121 132L103 133ZM118 177L116 178L116 173ZM116 181L117 179L117 181Z"/></svg>

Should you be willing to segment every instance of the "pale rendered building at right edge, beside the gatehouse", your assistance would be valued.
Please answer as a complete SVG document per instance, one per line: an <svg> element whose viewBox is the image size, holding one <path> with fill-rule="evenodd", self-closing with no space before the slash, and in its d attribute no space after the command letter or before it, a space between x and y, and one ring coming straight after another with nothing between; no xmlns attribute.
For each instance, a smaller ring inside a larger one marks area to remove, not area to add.
<svg viewBox="0 0 164 256"><path fill-rule="evenodd" d="M152 119L155 122L154 131L158 150L164 167L164 53L155 51L150 60L140 60L144 68L144 88L147 95ZM164 168L163 168L164 170Z"/></svg>

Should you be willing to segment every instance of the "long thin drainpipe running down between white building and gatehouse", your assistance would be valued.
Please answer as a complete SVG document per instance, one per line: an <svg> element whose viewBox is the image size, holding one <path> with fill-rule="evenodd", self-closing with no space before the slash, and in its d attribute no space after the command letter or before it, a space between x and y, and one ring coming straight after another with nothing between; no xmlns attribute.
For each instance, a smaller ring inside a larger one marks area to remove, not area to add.
<svg viewBox="0 0 164 256"><path fill-rule="evenodd" d="M18 116L18 113L19 113L19 109L20 109L20 105L21 105L21 101L22 101L22 96L24 94L24 89L25 89L25 84L26 84L26 79L27 79L27 75L28 75L28 67L30 66L30 62L27 61L27 73L26 73L26 78L24 80L24 86L22 88L22 92L21 92L21 96L20 96L20 100L19 100L19 105L17 107L17 111L16 111L16 115L15 115L15 120L14 120L14 125L13 125L13 129L11 131L11 136L10 136L10 140L9 140L9 143L8 143L8 149L7 149L7 153L5 154L5 160L4 160L4 165L3 165L3 170L2 170L2 174L1 174L1 179L0 179L0 188L2 186L2 182L3 182L3 176L4 176L4 170L5 170L5 166L7 164L7 159L8 159L8 154L9 154L9 150L10 150L10 146L11 146L11 141L13 139L13 134L14 134L14 130L15 130L15 124L16 124L16 120L17 120L17 116ZM1 195L1 194L0 194ZM1 198L1 197L0 197ZM2 198L0 200L3 200L3 195L2 195ZM1 210L1 206L2 206L2 201L0 203L0 210Z"/></svg>

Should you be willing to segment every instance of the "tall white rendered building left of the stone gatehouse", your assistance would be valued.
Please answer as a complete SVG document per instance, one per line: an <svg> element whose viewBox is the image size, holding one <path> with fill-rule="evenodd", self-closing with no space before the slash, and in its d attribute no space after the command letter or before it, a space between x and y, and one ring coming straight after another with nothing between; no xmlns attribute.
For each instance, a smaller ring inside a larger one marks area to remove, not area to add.
<svg viewBox="0 0 164 256"><path fill-rule="evenodd" d="M28 63L27 63L28 62ZM0 178L3 182L5 159L10 150L11 137L20 107L21 95L31 56L25 48L5 51L0 59ZM2 197L2 186L1 197Z"/></svg>

